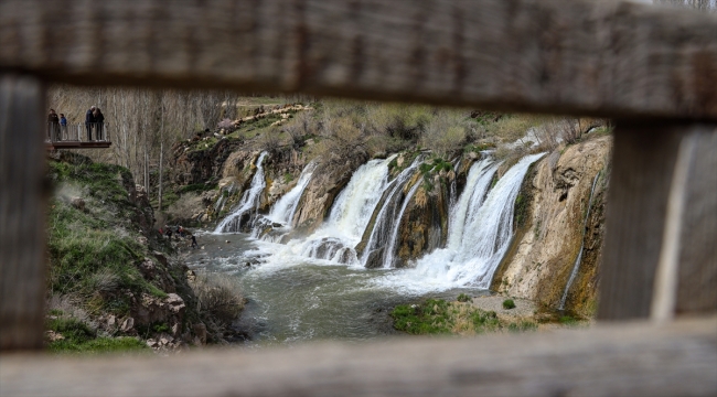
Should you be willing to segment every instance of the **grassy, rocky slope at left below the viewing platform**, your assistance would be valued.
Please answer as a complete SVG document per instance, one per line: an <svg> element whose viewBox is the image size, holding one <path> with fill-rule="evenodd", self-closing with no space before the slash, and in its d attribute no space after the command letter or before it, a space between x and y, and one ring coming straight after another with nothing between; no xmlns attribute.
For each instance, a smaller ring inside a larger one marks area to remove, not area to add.
<svg viewBox="0 0 717 397"><path fill-rule="evenodd" d="M174 243L152 229L152 208L127 169L55 153L50 178L52 351L175 350L223 341L231 320L202 310L207 299L201 292L234 290L188 280L189 269L170 259ZM243 300L231 302L235 316Z"/></svg>

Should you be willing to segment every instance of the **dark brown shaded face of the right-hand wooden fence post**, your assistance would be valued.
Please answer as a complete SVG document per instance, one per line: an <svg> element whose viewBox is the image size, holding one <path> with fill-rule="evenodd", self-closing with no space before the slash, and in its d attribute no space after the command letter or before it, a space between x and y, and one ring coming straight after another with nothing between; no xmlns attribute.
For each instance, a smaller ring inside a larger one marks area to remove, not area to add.
<svg viewBox="0 0 717 397"><path fill-rule="evenodd" d="M688 133L688 128L679 125L617 121L600 275L600 320L650 315L683 133Z"/></svg>

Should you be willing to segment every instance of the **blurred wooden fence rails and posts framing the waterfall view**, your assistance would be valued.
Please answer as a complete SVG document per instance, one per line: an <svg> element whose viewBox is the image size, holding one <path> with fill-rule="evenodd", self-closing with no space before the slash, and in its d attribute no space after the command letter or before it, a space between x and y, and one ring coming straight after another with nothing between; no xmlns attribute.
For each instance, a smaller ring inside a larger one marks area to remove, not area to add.
<svg viewBox="0 0 717 397"><path fill-rule="evenodd" d="M164 361L9 355L42 347L47 82L613 118L598 319L652 322ZM716 87L717 15L630 1L0 0L0 393L715 395ZM705 318L671 322L688 314Z"/></svg>

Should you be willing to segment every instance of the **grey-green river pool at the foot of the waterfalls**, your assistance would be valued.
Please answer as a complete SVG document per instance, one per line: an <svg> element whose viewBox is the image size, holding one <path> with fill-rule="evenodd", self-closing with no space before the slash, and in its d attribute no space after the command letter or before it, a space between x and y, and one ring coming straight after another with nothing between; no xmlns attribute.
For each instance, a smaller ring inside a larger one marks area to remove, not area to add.
<svg viewBox="0 0 717 397"><path fill-rule="evenodd" d="M196 235L204 249L191 251L188 265L239 280L248 302L235 326L249 336L244 343L249 347L396 335L399 333L394 331L389 315L396 304L428 297L454 299L461 292L488 293L474 288L406 290L388 281L405 270L366 269L309 258L277 260L270 254L280 245L247 234ZM258 258L266 262L247 266Z"/></svg>

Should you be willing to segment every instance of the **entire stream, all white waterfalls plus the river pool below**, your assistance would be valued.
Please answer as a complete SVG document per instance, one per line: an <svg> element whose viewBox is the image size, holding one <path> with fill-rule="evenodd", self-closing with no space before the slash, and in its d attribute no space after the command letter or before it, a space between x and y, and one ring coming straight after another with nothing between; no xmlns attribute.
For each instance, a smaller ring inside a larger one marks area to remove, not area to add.
<svg viewBox="0 0 717 397"><path fill-rule="evenodd" d="M451 197L448 244L418 259L414 268L394 269L400 218L421 184L408 187L420 161L393 181L388 163L372 160L358 168L336 196L317 232L286 244L260 240L243 233L200 235L201 250L190 254L192 268L237 277L248 299L239 320L249 345L286 344L313 339L365 340L394 333L390 308L421 297L453 299L458 293L488 293L495 268L513 236L513 208L529 165L543 154L528 155L511 167L493 186L500 163L490 158L474 163L458 197ZM252 187L217 232L256 208L264 190L263 153ZM266 216L290 229L292 213L308 185L312 165L297 186ZM258 192L257 192L258 191ZM383 197L383 198L382 198ZM379 204L383 205L376 208ZM373 230L365 230L377 211ZM257 227L259 227L257 223ZM370 236L362 258L354 247ZM378 269L364 267L365 255L387 247Z"/></svg>

